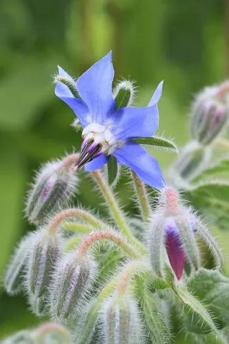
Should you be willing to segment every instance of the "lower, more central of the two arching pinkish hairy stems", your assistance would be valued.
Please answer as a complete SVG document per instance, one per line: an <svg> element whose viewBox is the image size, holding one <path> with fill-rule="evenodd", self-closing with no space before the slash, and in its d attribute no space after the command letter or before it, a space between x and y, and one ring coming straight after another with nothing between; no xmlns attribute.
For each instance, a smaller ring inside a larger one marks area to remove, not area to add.
<svg viewBox="0 0 229 344"><path fill-rule="evenodd" d="M78 248L79 255L85 255L89 246L94 244L98 240L110 240L116 243L124 252L127 253L131 258L140 258L140 254L134 250L132 246L130 246L125 239L122 239L120 235L113 233L109 230L98 230L98 232L94 232L89 234L85 239L81 242Z"/></svg>

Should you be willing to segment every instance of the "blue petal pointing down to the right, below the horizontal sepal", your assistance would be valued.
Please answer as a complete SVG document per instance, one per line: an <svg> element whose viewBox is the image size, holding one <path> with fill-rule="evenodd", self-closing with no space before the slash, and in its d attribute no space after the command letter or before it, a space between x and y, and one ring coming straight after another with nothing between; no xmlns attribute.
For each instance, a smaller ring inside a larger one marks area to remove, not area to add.
<svg viewBox="0 0 229 344"><path fill-rule="evenodd" d="M155 189L166 184L157 160L149 155L137 142L127 142L113 152L118 162L129 166L138 177Z"/></svg>

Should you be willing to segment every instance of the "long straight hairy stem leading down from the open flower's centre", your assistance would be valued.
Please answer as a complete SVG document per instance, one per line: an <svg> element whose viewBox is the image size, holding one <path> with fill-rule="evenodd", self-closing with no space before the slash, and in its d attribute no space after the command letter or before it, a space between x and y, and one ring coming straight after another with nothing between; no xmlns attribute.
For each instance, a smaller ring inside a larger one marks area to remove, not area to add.
<svg viewBox="0 0 229 344"><path fill-rule="evenodd" d="M100 190L102 191L102 195L105 198L107 205L109 207L109 211L111 215L113 216L113 219L115 220L116 224L120 228L120 231L135 245L139 248L139 250L144 254L146 253L146 248L136 239L132 233L129 227L127 226L126 219L124 217L124 214L122 213L120 207L118 206L118 202L116 201L116 198L113 196L113 193L111 189L109 188L109 185L105 181L104 178L102 178L102 175L98 171L91 172L91 175L93 176L94 180L98 184Z"/></svg>

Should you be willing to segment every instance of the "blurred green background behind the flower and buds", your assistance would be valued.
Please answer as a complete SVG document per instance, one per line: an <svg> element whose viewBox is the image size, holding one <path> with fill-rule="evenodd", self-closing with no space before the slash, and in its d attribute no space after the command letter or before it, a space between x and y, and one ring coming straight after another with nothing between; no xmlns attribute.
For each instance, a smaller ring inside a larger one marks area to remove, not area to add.
<svg viewBox="0 0 229 344"><path fill-rule="evenodd" d="M32 230L23 207L34 169L80 147L72 110L54 96L56 66L78 76L113 50L116 79L138 85L137 105L164 79L160 133L181 146L195 92L228 76L228 8L220 0L0 1L1 275L16 241ZM175 156L157 158L166 167ZM88 180L78 197L96 205ZM219 237L224 247L227 237ZM0 337L37 322L23 297L1 290Z"/></svg>

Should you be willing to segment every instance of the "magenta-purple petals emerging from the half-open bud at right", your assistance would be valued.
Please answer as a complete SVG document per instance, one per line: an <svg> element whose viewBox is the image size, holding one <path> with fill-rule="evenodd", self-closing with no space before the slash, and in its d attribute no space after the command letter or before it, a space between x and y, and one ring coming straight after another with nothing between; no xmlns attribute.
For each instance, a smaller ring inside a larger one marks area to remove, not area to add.
<svg viewBox="0 0 229 344"><path fill-rule="evenodd" d="M184 270L185 254L182 248L182 241L179 237L179 230L173 219L168 219L165 225L166 241L165 247L171 267L177 279L181 279Z"/></svg>

